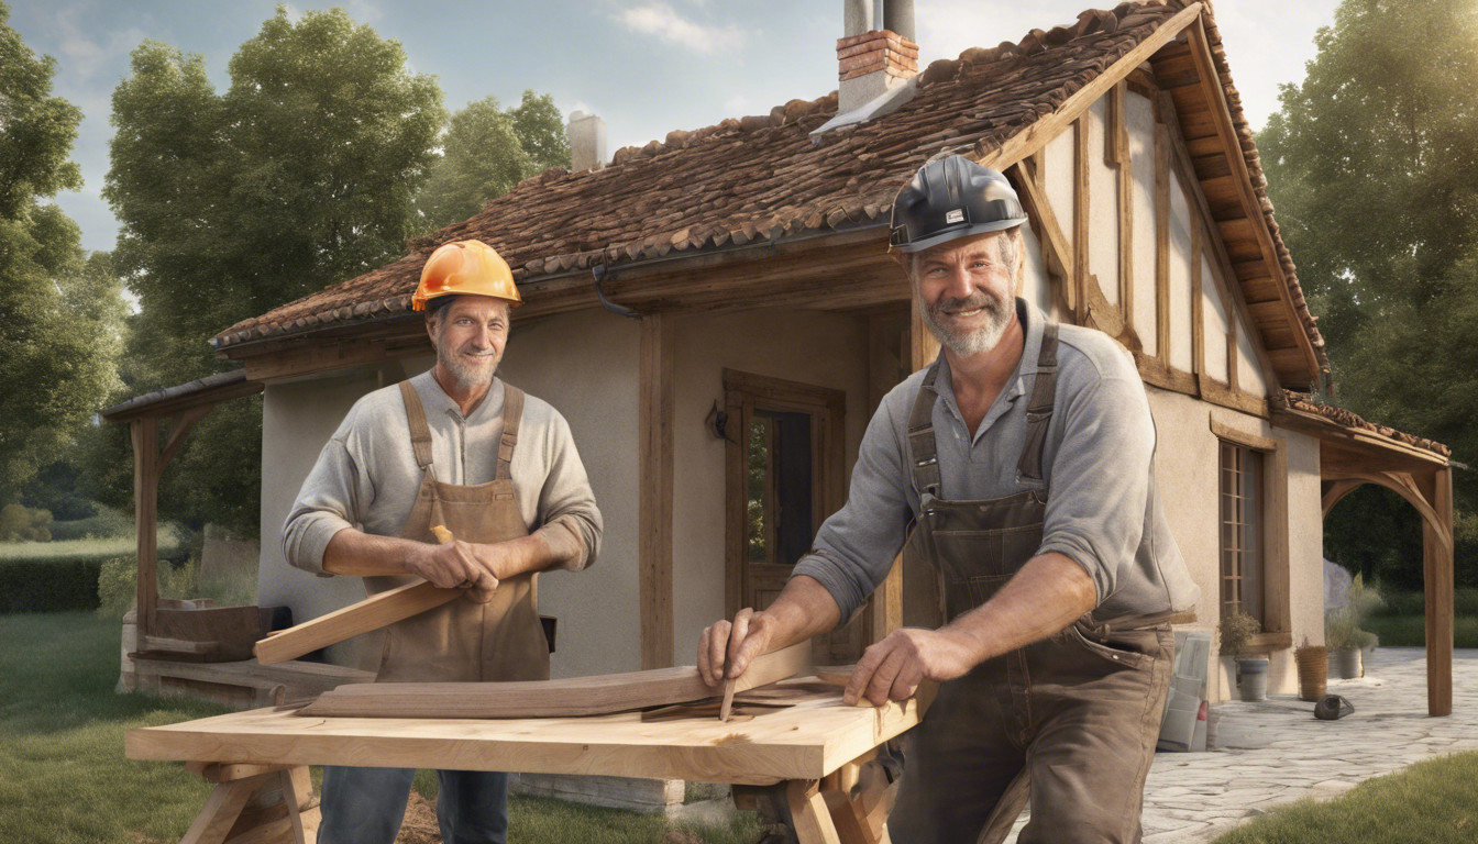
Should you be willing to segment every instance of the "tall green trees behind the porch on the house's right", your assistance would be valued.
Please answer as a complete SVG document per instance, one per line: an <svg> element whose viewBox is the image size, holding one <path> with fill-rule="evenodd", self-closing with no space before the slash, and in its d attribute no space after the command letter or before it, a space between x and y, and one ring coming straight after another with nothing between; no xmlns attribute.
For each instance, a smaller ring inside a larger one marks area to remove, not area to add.
<svg viewBox="0 0 1478 844"><path fill-rule="evenodd" d="M1478 3L1345 0L1315 40L1307 78L1283 86L1258 146L1283 238L1321 315L1336 398L1474 463ZM1472 584L1478 477L1459 472L1454 485L1459 579ZM1367 495L1351 506L1394 501ZM1419 545L1392 548L1369 528L1382 520L1375 510L1351 513L1345 523L1366 528L1330 537L1332 545L1394 550L1420 571Z"/></svg>

